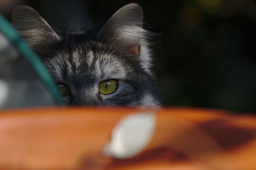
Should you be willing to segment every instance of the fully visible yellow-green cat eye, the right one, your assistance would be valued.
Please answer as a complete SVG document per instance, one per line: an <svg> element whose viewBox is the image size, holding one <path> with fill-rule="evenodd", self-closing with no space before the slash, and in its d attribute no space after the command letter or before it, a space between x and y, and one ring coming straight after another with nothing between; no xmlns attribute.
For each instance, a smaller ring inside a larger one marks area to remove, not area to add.
<svg viewBox="0 0 256 170"><path fill-rule="evenodd" d="M99 91L103 95L110 95L111 93L114 93L117 89L118 82L116 80L108 80L100 82L99 84Z"/></svg>

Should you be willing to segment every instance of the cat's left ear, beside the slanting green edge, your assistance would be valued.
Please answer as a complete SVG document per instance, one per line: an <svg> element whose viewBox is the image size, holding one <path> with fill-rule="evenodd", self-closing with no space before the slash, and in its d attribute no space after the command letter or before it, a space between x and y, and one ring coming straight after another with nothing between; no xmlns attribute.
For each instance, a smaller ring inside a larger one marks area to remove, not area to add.
<svg viewBox="0 0 256 170"><path fill-rule="evenodd" d="M26 42L35 49L60 39L39 13L29 6L18 6L13 10L12 24Z"/></svg>

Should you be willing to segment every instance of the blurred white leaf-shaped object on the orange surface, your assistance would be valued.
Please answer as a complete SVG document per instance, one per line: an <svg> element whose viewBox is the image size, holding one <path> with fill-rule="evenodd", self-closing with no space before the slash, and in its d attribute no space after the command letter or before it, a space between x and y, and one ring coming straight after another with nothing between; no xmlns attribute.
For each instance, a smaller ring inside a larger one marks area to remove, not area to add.
<svg viewBox="0 0 256 170"><path fill-rule="evenodd" d="M138 155L150 142L154 134L156 115L141 112L125 116L113 128L111 140L103 154L115 158L131 158Z"/></svg>

